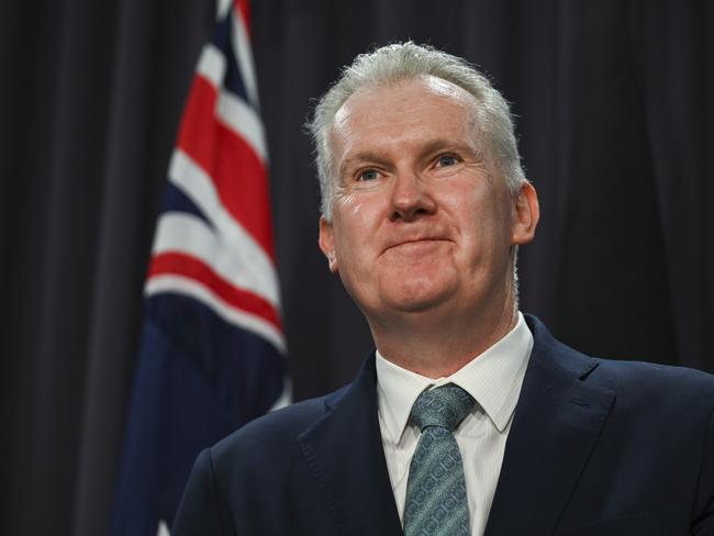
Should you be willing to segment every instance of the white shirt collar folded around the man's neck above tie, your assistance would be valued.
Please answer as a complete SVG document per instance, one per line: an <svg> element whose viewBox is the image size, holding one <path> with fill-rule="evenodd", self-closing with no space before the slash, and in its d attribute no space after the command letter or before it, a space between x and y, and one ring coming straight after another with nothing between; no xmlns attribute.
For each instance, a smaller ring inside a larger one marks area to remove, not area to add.
<svg viewBox="0 0 714 536"><path fill-rule="evenodd" d="M379 411L388 436L398 443L420 393L446 383L455 383L473 397L498 431L503 432L515 410L533 348L533 334L521 312L517 316L515 327L501 340L447 378L417 375L388 361L377 350Z"/></svg>

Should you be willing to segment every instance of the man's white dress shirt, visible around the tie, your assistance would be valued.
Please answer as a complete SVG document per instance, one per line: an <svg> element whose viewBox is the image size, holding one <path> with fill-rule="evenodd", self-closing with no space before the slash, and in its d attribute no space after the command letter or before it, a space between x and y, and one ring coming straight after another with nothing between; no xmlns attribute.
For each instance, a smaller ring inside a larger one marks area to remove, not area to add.
<svg viewBox="0 0 714 536"><path fill-rule="evenodd" d="M377 350L379 426L402 525L409 466L421 435L419 427L408 423L412 405L425 389L455 383L476 400L454 435L464 459L471 535L483 535L532 348L533 335L518 312L516 326L507 335L448 378L417 375Z"/></svg>

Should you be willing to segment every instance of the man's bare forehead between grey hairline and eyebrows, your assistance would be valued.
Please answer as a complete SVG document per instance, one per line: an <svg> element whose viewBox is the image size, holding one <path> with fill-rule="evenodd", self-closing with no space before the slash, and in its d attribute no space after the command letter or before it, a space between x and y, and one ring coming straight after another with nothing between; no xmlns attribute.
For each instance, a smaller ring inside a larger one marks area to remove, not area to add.
<svg viewBox="0 0 714 536"><path fill-rule="evenodd" d="M470 137L476 104L464 88L434 76L369 86L335 114L333 148L341 153L358 141L397 143L429 134Z"/></svg>

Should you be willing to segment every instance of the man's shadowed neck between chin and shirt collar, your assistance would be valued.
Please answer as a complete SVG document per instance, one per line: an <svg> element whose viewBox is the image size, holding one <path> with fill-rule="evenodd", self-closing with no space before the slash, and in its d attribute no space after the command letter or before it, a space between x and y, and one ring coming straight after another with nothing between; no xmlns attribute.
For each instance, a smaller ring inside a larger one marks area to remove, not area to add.
<svg viewBox="0 0 714 536"><path fill-rule="evenodd" d="M503 338L516 324L515 300L458 315L420 313L370 322L379 353L427 378L450 376ZM386 328L388 326L388 328Z"/></svg>

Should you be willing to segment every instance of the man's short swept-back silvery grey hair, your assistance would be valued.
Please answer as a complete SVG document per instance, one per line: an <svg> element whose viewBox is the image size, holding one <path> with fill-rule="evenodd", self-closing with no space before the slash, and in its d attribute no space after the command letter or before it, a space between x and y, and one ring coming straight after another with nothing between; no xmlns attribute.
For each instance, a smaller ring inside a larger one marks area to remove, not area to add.
<svg viewBox="0 0 714 536"><path fill-rule="evenodd" d="M526 181L513 129L509 103L489 79L462 58L428 45L397 43L360 54L345 67L341 78L320 99L308 130L315 144L315 165L322 197L321 212L332 217L335 196L331 131L342 105L366 87L394 83L424 76L449 81L471 93L476 100L476 123L481 143L493 159L512 192Z"/></svg>

